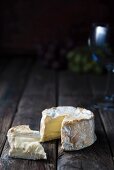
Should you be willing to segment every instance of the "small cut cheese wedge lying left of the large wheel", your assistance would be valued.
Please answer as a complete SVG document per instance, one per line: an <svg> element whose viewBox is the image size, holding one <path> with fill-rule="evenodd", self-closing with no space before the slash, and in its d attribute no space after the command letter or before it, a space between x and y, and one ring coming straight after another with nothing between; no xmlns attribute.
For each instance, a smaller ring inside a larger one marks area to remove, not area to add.
<svg viewBox="0 0 114 170"><path fill-rule="evenodd" d="M7 137L10 157L33 160L47 158L43 146L39 143L39 131L31 130L28 125L12 127Z"/></svg>

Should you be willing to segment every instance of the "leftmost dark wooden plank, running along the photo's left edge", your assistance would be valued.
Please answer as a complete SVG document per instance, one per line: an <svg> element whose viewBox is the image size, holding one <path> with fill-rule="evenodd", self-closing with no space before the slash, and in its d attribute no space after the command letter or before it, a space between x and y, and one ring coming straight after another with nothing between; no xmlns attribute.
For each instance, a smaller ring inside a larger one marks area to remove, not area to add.
<svg viewBox="0 0 114 170"><path fill-rule="evenodd" d="M26 62L13 60L0 77L0 154L27 80L30 62L30 59Z"/></svg>

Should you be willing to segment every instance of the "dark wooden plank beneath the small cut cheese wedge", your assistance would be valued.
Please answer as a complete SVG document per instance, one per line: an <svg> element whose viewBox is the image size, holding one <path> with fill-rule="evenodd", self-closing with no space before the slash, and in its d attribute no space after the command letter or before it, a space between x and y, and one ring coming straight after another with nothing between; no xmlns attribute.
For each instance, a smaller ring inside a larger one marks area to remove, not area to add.
<svg viewBox="0 0 114 170"><path fill-rule="evenodd" d="M26 90L19 103L19 107L12 126L20 124L29 124L32 129L39 130L41 111L47 107L55 106L55 74L50 71L40 71L36 64ZM56 169L56 141L43 144L47 153L47 160L21 160L8 158L9 146L6 143L2 159L4 166L11 169L38 169L54 170Z"/></svg>

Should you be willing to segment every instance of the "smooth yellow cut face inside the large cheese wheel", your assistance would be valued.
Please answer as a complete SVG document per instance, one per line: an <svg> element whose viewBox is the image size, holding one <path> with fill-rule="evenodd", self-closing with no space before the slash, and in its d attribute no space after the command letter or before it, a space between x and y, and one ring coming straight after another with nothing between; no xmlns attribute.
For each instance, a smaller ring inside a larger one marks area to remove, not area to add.
<svg viewBox="0 0 114 170"><path fill-rule="evenodd" d="M61 124L64 119L65 115L56 117L56 118L49 118L45 119L45 125L42 123L41 126L41 142L49 141L53 139L60 138L61 136Z"/></svg>

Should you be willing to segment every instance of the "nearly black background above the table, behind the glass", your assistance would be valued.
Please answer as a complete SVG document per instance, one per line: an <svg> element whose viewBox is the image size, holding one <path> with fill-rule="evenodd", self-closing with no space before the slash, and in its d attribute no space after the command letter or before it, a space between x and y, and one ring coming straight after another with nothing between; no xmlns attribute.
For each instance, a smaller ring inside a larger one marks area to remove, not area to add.
<svg viewBox="0 0 114 170"><path fill-rule="evenodd" d="M39 44L87 43L93 22L111 26L113 0L2 0L1 54L36 53Z"/></svg>

